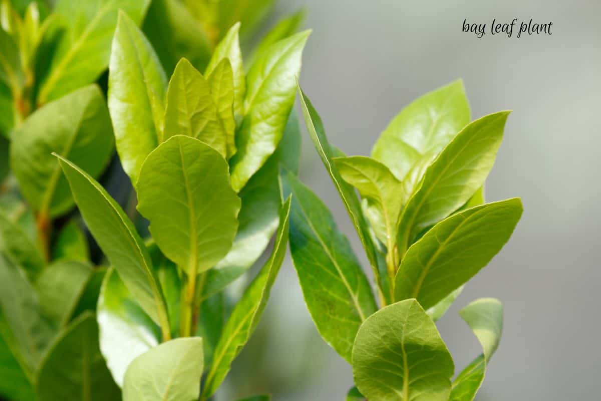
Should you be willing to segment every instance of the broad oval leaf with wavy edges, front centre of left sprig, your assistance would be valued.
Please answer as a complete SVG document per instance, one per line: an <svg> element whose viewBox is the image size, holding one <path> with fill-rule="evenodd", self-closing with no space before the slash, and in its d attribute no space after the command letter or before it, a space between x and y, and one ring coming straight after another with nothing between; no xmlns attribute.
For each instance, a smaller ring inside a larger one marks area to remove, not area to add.
<svg viewBox="0 0 601 401"><path fill-rule="evenodd" d="M190 277L230 250L240 198L230 186L227 162L209 145L183 135L163 142L144 162L138 198L157 245Z"/></svg>

